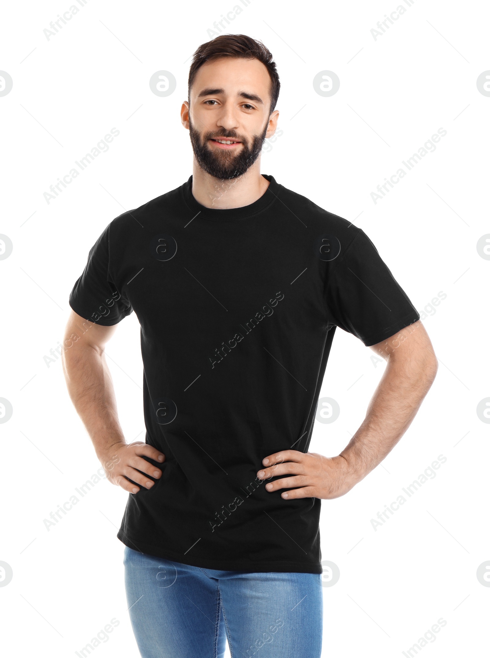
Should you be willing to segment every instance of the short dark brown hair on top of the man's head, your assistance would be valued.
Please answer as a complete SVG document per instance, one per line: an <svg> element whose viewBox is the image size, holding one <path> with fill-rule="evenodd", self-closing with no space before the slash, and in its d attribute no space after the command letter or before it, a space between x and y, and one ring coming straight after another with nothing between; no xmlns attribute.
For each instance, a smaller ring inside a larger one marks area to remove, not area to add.
<svg viewBox="0 0 490 658"><path fill-rule="evenodd" d="M277 99L279 97L279 75L277 74L275 62L272 60L272 53L263 45L261 41L256 41L246 34L220 34L220 36L207 43L202 43L192 57L192 63L189 69L188 79L188 101L190 102L190 88L196 78L198 69L209 61L214 61L221 57L242 57L243 59L258 59L269 71L271 77L271 109L273 112Z"/></svg>

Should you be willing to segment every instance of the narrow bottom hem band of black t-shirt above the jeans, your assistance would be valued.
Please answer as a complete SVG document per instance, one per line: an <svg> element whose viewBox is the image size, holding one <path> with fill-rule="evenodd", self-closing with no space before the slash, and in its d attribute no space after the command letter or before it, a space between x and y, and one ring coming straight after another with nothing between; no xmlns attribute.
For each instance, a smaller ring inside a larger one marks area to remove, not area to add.
<svg viewBox="0 0 490 658"><path fill-rule="evenodd" d="M128 546L139 553L148 553L154 557L161 557L162 559L172 560L182 565L189 565L190 567L201 567L202 569L218 569L223 571L243 571L248 573L265 573L265 572L297 572L309 574L323 573L321 563L307 564L304 562L289 562L289 561L274 561L274 562L253 562L250 560L208 560L208 559L192 559L182 555L182 553L175 553L174 551L167 551L161 547L153 546L151 544L144 544L138 540L138 544L133 542L122 530L117 533L117 538L122 544Z"/></svg>

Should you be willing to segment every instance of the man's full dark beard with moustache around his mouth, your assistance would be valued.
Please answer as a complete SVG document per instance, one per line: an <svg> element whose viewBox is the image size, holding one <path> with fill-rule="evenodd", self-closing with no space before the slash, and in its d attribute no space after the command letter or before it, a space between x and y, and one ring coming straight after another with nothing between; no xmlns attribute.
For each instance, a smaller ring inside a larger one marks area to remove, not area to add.
<svg viewBox="0 0 490 658"><path fill-rule="evenodd" d="M189 116L189 134L194 157L204 171L213 178L236 178L243 174L254 164L260 155L265 140L267 124L261 135L254 135L252 144L234 133L234 131L220 130L219 132L203 132L200 134L192 125ZM242 148L237 153L227 149L211 149L207 144L208 139L237 139L242 142Z"/></svg>

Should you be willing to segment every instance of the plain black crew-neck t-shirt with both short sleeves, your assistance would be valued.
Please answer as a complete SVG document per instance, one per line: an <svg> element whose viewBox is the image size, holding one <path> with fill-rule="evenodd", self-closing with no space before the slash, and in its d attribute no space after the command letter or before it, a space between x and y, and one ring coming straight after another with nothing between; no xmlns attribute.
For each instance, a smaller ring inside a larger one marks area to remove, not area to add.
<svg viewBox="0 0 490 658"><path fill-rule="evenodd" d="M363 230L264 177L244 207L200 205L190 176L115 218L70 306L104 326L134 310L141 326L146 443L166 460L129 494L121 542L196 567L321 573L320 499L285 500L256 473L308 451L337 326L373 345L420 316Z"/></svg>

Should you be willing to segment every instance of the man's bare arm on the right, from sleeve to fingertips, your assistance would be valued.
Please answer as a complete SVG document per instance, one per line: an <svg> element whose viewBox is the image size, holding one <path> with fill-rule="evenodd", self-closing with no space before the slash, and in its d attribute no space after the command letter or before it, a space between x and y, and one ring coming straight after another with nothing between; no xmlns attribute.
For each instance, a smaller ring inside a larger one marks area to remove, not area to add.
<svg viewBox="0 0 490 658"><path fill-rule="evenodd" d="M414 322L387 341L371 345L387 367L368 405L366 418L336 457L283 450L267 455L258 478L284 478L265 485L283 498L337 498L377 467L402 438L437 373L437 359L422 322ZM297 487L297 488L296 488Z"/></svg>

